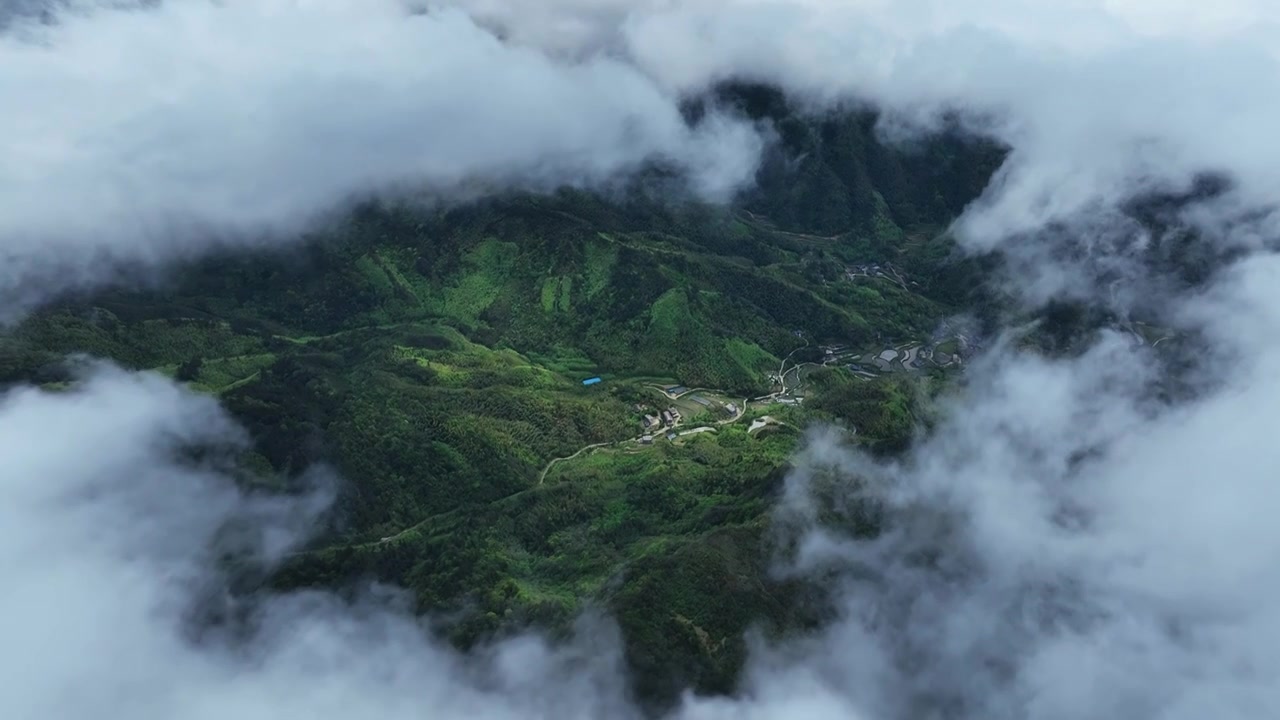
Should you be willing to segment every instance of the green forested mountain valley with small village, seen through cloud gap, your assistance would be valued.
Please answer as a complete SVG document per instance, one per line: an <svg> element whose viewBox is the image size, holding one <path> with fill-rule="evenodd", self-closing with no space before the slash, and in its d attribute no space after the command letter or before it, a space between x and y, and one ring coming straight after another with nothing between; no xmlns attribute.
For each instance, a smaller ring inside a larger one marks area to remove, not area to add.
<svg viewBox="0 0 1280 720"><path fill-rule="evenodd" d="M79 352L157 370L248 428L252 482L335 468L333 525L276 588L396 583L461 647L598 606L641 698L730 692L748 628L822 619L765 571L803 428L893 452L960 352L931 333L978 266L943 231L1000 154L891 147L870 115L799 118L763 88L718 101L781 136L737 206L370 202L288 250L49 307L3 338L0 380L59 387ZM664 410L678 424L645 429Z"/></svg>

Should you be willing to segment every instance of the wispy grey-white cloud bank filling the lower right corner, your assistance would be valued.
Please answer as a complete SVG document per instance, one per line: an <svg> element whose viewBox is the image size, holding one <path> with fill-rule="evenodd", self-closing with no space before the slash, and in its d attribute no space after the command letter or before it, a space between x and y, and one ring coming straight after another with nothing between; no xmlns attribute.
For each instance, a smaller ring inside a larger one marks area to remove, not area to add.
<svg viewBox="0 0 1280 720"><path fill-rule="evenodd" d="M887 532L810 537L806 562L845 569L844 619L758 660L764 702L800 678L787 707L872 717L1274 716L1277 279L1260 256L1176 302L1244 357L1193 401L1153 400L1153 354L1112 334L987 357L900 462L818 442L791 495L833 468L849 502L888 505Z"/></svg>

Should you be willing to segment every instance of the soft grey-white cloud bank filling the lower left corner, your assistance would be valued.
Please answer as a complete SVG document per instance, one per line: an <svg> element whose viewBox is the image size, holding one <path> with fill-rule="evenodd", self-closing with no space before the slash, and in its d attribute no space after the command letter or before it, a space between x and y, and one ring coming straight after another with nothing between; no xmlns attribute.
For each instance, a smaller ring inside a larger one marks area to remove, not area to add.
<svg viewBox="0 0 1280 720"><path fill-rule="evenodd" d="M463 659L392 602L291 594L250 598L248 641L197 644L193 614L227 602L220 553L270 562L325 505L323 487L247 495L184 452L242 441L214 400L147 374L99 368L70 391L0 397L0 715L631 715L608 626L584 625L571 648L525 637Z"/></svg>

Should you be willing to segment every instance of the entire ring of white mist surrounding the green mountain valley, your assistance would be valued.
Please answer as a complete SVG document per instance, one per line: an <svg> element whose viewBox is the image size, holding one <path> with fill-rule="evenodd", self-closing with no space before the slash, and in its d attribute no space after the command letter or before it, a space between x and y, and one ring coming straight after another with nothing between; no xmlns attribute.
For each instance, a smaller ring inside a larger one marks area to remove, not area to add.
<svg viewBox="0 0 1280 720"><path fill-rule="evenodd" d="M813 434L777 510L780 528L801 528L778 571L833 574L838 618L758 646L739 697L675 715L1280 716L1272 3L417 5L431 14L168 3L10 29L0 96L29 110L0 118L18 160L0 169L0 291L67 270L105 282L86 258L155 266L223 237L160 232L170 222L285 232L406 183L598 184L666 158L727 197L759 136L732 119L689 128L676 102L728 78L777 83L812 111L869 101L904 141L960 113L1011 147L954 228L1023 270L993 282L1027 307L1156 307L1199 338L1180 360L1212 382L1174 401L1160 350L1123 332L1064 359L1010 333L904 457ZM1174 219L1242 256L1166 295L1134 254L1156 238L1125 205L1204 172L1229 188ZM244 542L270 566L324 506L323 483L279 503L179 452L243 441L212 400L148 375L96 369L68 392L5 396L0 568L14 589L0 623L15 641L0 651L0 712L639 714L607 619L566 646L526 637L465 657L393 600L298 594L253 607L247 639L193 643L187 614L221 587L219 528L262 528ZM831 474L847 503L883 503L881 537L810 520L812 482Z"/></svg>

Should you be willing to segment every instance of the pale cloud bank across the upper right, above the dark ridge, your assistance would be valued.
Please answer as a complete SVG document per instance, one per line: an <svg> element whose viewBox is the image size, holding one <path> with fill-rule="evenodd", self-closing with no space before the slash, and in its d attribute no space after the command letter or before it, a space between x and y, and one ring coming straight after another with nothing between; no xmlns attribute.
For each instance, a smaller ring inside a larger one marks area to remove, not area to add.
<svg viewBox="0 0 1280 720"><path fill-rule="evenodd" d="M961 111L1012 149L957 228L975 250L1198 172L1230 173L1245 205L1274 204L1280 182L1280 9L1267 0L447 4L531 46L612 46L675 92L750 78L815 108L869 101L925 131Z"/></svg>

